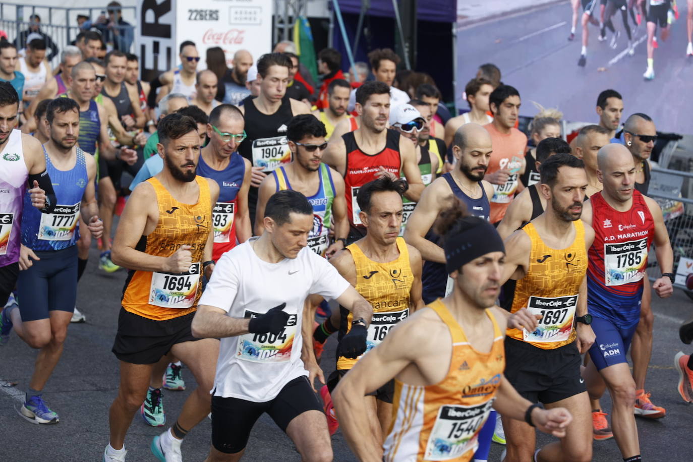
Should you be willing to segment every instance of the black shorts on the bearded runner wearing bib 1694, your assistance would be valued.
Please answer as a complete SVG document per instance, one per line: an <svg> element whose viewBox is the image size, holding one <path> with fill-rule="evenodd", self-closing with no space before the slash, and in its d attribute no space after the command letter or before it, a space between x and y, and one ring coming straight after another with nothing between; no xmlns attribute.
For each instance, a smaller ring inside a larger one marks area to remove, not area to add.
<svg viewBox="0 0 693 462"><path fill-rule="evenodd" d="M175 344L200 340L190 330L195 312L166 321L155 321L121 307L112 352L130 364L155 364Z"/></svg>

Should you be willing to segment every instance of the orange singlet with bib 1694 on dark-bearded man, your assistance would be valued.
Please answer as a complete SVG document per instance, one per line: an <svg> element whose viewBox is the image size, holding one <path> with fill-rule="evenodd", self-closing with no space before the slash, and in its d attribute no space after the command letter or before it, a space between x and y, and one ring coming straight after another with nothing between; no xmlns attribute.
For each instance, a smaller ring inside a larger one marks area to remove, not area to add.
<svg viewBox="0 0 693 462"><path fill-rule="evenodd" d="M159 222L149 236L142 236L136 249L149 255L168 257L181 245L192 246L193 264L184 274L130 271L123 289L123 308L155 321L184 316L195 311L202 294L202 263L211 226L209 184L195 177L200 188L198 202L183 204L152 177L147 180L157 194Z"/></svg>

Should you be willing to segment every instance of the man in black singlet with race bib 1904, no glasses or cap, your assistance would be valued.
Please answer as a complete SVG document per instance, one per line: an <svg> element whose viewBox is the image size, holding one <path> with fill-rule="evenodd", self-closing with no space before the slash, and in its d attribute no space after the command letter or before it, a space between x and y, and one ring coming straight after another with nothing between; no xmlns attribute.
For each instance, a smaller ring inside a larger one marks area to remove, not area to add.
<svg viewBox="0 0 693 462"><path fill-rule="evenodd" d="M248 193L250 223L256 222L255 208L258 187L263 179L281 163L291 161L286 139L286 126L293 116L308 114L304 103L286 97L286 85L292 62L283 53L267 53L257 62L260 95L243 100L240 112L245 117L245 141L238 152L252 163Z"/></svg>

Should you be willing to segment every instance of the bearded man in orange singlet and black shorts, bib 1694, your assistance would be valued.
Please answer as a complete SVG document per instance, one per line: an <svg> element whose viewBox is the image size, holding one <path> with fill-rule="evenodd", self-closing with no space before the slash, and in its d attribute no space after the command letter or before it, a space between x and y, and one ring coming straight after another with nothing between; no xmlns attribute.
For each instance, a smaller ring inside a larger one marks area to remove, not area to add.
<svg viewBox="0 0 693 462"><path fill-rule="evenodd" d="M198 388L175 425L152 442L164 461L181 461L182 439L209 414L215 339L196 341L191 322L202 274L213 270L212 209L219 186L196 176L200 136L192 118L170 114L159 122L159 154L165 168L135 188L116 231L113 258L129 268L113 353L121 385L110 408L107 462L125 461L125 433L145 399L153 364L173 353L190 368Z"/></svg>

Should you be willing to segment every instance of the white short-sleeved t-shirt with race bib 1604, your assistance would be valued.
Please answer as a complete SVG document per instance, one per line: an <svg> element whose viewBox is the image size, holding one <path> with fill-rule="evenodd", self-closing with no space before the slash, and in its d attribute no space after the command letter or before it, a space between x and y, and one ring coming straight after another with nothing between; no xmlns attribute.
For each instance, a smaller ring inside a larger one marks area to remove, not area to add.
<svg viewBox="0 0 693 462"><path fill-rule="evenodd" d="M214 396L253 402L273 400L291 380L308 371L301 361L301 318L309 294L335 299L349 287L337 269L308 247L293 260L261 260L251 238L219 258L200 305L234 318L265 314L286 302L291 315L277 335L245 334L221 339Z"/></svg>

